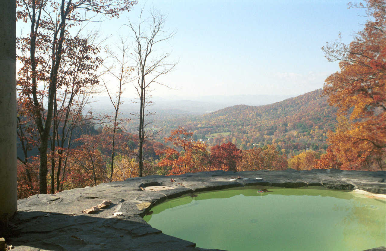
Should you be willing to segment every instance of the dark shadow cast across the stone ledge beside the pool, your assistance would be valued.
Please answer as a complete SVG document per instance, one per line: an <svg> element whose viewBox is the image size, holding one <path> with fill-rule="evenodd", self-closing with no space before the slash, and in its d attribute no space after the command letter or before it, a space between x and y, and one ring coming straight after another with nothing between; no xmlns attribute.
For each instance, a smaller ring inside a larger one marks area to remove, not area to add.
<svg viewBox="0 0 386 251"><path fill-rule="evenodd" d="M151 227L140 216L100 218L52 212L17 212L11 238L17 250L183 250L195 247ZM154 249L153 249L154 250Z"/></svg>

